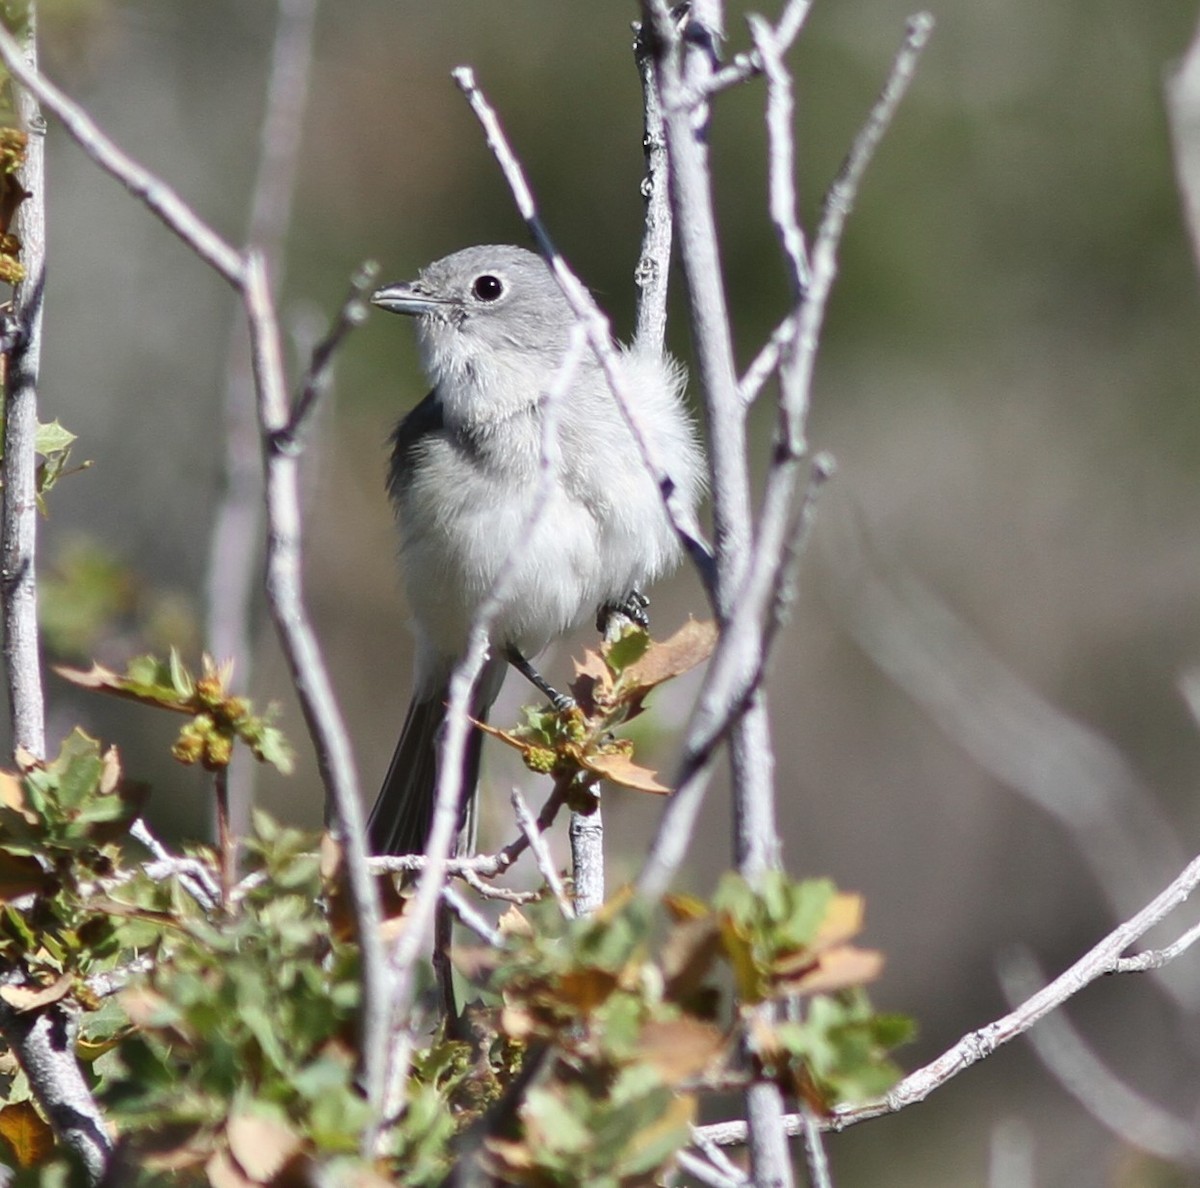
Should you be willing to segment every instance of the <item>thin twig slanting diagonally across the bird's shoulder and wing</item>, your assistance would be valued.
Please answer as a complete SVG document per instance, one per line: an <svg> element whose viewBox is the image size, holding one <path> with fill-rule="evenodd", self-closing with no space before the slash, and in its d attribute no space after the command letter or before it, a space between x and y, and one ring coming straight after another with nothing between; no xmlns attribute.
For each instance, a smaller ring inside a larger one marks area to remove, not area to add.
<svg viewBox="0 0 1200 1188"><path fill-rule="evenodd" d="M679 498L674 480L671 478L667 460L658 456L652 444L652 438L646 431L637 409L636 397L629 391L629 385L625 383L624 372L620 366L620 354L612 341L608 319L600 311L600 307L593 300L592 294L583 287L580 278L568 268L566 262L554 246L553 240L551 240L538 214L538 206L529 188L529 182L526 180L524 170L521 168L521 162L512 151L512 146L509 144L503 127L500 127L500 121L496 115L494 108L475 83L474 71L467 66L460 66L452 74L454 80L458 84L463 95L466 95L470 109L475 113L475 118L484 128L487 137L487 146L492 150L492 155L496 157L496 162L504 174L504 180L509 184L517 211L529 228L529 234L533 236L538 251L541 252L551 272L553 272L554 278L558 281L568 304L587 331L588 343L595 353L596 360L604 370L605 378L608 380L608 386L612 389L613 398L617 401L617 406L620 408L622 415L625 418L630 432L634 434L634 440L637 443L642 461L654 478L655 484L658 484L664 508L671 520L671 526L696 565L696 570L701 575L706 588L708 588L712 582L712 550L704 541L695 511Z"/></svg>

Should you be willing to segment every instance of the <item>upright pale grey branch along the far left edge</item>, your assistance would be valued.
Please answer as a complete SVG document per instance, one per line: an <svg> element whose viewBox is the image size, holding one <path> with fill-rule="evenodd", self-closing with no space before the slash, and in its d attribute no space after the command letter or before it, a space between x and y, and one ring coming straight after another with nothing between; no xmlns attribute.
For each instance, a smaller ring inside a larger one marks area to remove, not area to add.
<svg viewBox="0 0 1200 1188"><path fill-rule="evenodd" d="M37 68L37 18L29 6L22 61ZM28 197L17 208L25 277L13 288L16 334L5 376L4 522L0 575L4 594L5 676L13 748L46 756L46 704L37 635L37 373L42 353L46 284L46 125L37 97L16 86L17 114L29 137L19 180Z"/></svg>

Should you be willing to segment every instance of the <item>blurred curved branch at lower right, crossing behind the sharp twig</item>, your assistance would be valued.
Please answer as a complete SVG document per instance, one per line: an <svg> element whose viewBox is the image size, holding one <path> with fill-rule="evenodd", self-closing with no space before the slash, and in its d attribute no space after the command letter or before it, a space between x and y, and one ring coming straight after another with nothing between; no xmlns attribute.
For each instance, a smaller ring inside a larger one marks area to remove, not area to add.
<svg viewBox="0 0 1200 1188"><path fill-rule="evenodd" d="M1000 983L1009 1006L1045 980L1033 954L1024 946L998 962ZM1043 1019L1025 1037L1062 1087L1122 1142L1160 1159L1200 1164L1195 1127L1148 1100L1117 1078L1070 1025L1062 1010Z"/></svg>

